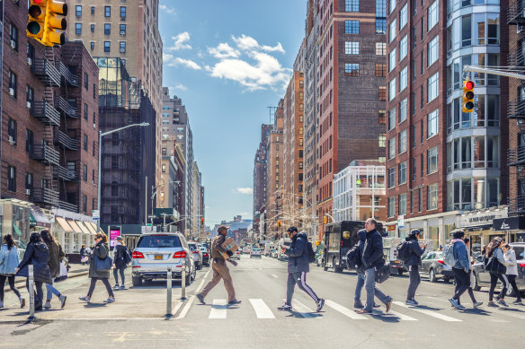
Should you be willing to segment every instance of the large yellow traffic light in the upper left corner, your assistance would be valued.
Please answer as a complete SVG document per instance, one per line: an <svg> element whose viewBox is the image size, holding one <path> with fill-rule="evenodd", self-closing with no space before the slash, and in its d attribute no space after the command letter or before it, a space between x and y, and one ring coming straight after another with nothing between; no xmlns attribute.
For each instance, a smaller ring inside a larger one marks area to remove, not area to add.
<svg viewBox="0 0 525 349"><path fill-rule="evenodd" d="M28 10L27 36L44 46L66 43L67 4L54 0L31 0Z"/></svg>

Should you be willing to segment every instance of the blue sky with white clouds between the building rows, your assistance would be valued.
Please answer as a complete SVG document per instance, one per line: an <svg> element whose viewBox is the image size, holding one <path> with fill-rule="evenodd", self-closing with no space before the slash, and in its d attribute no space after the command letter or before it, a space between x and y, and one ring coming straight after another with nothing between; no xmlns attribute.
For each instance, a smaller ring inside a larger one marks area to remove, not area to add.
<svg viewBox="0 0 525 349"><path fill-rule="evenodd" d="M285 92L306 0L160 0L163 85L190 116L206 224L252 218L254 154Z"/></svg>

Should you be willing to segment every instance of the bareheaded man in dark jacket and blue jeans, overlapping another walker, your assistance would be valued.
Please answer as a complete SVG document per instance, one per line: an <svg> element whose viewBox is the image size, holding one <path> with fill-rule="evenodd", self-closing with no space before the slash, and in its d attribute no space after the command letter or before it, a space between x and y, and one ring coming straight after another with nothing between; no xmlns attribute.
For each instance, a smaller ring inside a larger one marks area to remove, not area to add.
<svg viewBox="0 0 525 349"><path fill-rule="evenodd" d="M369 218L365 222L367 231L364 248L360 254L363 268L365 270L365 289L367 290L367 302L365 308L359 310L358 314L371 314L374 307L374 296L378 297L387 306L387 311L392 307L392 297L387 296L376 287L376 267L385 265L383 259L383 238L377 230L378 222Z"/></svg>

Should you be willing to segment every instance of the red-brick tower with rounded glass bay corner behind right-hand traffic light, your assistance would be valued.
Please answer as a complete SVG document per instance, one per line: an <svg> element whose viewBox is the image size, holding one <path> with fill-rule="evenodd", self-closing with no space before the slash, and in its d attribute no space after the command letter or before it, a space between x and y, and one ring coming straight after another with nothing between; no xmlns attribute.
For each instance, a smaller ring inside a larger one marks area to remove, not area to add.
<svg viewBox="0 0 525 349"><path fill-rule="evenodd" d="M506 61L508 3L495 3L389 1L388 224L404 217L392 234L418 228L442 245L458 214L506 200L506 79L471 73L476 107L462 112L463 66Z"/></svg>

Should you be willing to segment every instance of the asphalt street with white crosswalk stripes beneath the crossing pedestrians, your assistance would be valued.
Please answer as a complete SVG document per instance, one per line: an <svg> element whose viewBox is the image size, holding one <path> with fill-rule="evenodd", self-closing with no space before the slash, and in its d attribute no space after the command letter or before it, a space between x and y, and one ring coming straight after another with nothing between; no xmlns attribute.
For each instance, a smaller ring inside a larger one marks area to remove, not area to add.
<svg viewBox="0 0 525 349"><path fill-rule="evenodd" d="M467 294L467 310L451 309L452 284L431 284L423 277L416 293L419 307L404 304L407 276L393 276L379 288L394 298L390 313L382 306L374 315L358 316L352 309L356 275L324 272L312 266L307 283L325 308L316 313L316 304L296 288L293 312L278 311L286 296L286 263L263 257L243 256L239 266L230 266L238 306L226 307L227 292L222 283L209 292L206 305L193 296L209 281L209 268L198 272L187 289L188 299L180 301L180 282L174 281L174 317L165 318L165 282L116 293L115 303L104 305L102 284L92 304L77 301L89 280L85 277L58 284L68 295L64 310L37 313L40 321L22 324L27 313L13 309L13 294L5 296L7 309L0 311L0 348L129 347L144 348L494 348L523 343L525 306L509 309L487 308L487 292L476 292L484 306L473 310ZM129 281L127 282L129 283ZM362 301L366 292L363 290ZM100 300L99 300L100 299ZM512 301L508 299L508 301ZM54 301L55 307L58 301ZM17 322L18 321L18 322Z"/></svg>

